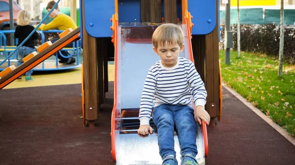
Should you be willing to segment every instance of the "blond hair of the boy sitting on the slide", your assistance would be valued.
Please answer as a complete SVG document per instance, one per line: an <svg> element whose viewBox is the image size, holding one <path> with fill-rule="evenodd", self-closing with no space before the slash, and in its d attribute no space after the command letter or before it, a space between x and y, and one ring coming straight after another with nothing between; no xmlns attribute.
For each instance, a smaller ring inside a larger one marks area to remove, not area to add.
<svg viewBox="0 0 295 165"><path fill-rule="evenodd" d="M169 45L177 43L182 47L183 40L183 31L177 24L162 24L152 34L152 45L155 48L158 48L159 44L164 46L166 42Z"/></svg>

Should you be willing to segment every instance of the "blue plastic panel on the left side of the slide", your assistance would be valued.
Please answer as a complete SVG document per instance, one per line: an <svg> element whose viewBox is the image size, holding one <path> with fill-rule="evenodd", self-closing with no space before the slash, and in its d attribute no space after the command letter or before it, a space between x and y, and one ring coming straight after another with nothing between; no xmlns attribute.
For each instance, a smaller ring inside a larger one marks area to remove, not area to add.
<svg viewBox="0 0 295 165"><path fill-rule="evenodd" d="M92 37L111 37L110 19L115 14L114 0L85 0L84 1L86 31Z"/></svg>

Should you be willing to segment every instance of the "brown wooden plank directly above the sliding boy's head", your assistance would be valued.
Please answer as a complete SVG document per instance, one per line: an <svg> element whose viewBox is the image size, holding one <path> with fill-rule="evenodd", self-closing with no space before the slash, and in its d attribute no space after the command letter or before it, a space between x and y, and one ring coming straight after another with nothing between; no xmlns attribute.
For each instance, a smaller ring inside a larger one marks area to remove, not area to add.
<svg viewBox="0 0 295 165"><path fill-rule="evenodd" d="M164 0L164 22L177 24L176 0Z"/></svg>

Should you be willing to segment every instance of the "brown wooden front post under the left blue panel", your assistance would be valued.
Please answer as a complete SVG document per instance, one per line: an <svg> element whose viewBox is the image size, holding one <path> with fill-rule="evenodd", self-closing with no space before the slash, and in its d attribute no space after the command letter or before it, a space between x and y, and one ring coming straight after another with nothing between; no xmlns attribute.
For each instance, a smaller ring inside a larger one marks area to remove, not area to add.
<svg viewBox="0 0 295 165"><path fill-rule="evenodd" d="M82 0L82 24L85 24L84 1ZM91 37L83 26L83 70L84 70L84 91L85 91L85 119L88 121L97 120L98 114L98 73L97 73L97 49L96 39ZM92 122L91 122L92 123Z"/></svg>

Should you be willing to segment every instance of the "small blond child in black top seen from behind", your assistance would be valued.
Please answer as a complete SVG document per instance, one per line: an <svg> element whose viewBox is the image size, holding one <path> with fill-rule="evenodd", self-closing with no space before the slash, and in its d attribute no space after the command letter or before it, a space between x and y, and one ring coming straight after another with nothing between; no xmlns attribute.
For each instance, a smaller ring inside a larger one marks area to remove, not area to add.
<svg viewBox="0 0 295 165"><path fill-rule="evenodd" d="M18 38L18 45L19 46L34 30L34 27L30 25L30 14L28 10L21 10L17 16L17 26L14 32L14 38ZM23 58L29 55L30 53L36 51L34 46L34 40L38 39L39 33L34 32L33 35L29 37L29 39L17 50L17 57L18 62L17 66L23 64ZM26 73L26 81L32 81L33 78L31 77L33 71L28 71ZM22 79L20 76L18 79Z"/></svg>

